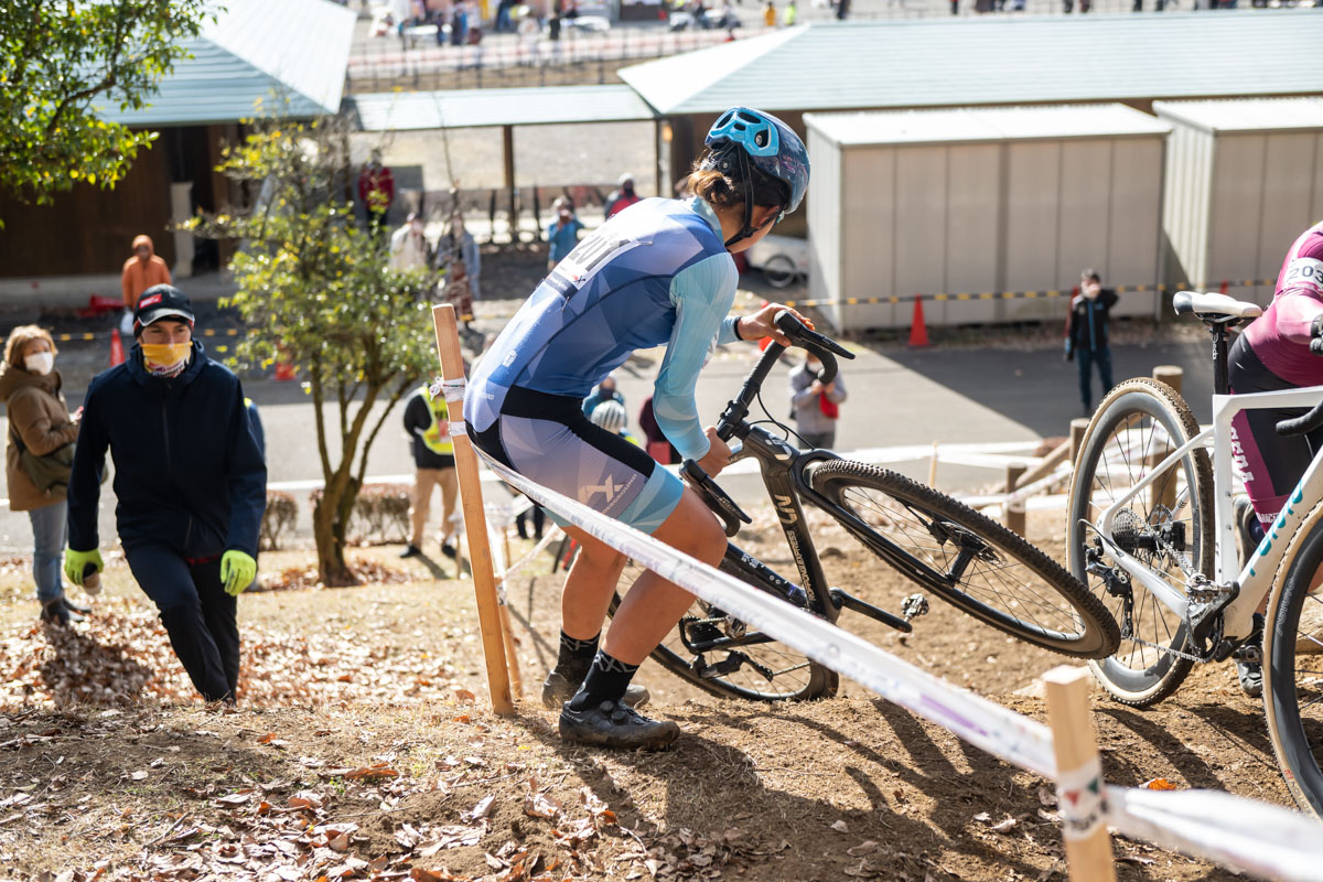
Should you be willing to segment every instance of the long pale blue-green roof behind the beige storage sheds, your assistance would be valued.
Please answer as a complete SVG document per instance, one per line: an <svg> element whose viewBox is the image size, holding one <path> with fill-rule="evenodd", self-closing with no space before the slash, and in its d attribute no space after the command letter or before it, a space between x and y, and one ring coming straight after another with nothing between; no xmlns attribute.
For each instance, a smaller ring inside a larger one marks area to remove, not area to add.
<svg viewBox="0 0 1323 882"><path fill-rule="evenodd" d="M663 115L1293 95L1323 90L1314 11L810 24L635 65Z"/></svg>

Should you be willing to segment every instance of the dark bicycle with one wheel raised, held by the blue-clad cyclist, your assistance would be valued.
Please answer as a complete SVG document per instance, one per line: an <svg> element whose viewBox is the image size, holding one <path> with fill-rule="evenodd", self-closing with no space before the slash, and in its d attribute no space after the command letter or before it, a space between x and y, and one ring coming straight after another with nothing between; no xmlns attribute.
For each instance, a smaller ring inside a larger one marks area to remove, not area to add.
<svg viewBox="0 0 1323 882"><path fill-rule="evenodd" d="M808 329L791 312L778 315L777 327L796 346L823 364L819 380L836 377L836 357L853 358L833 340ZM1066 656L1102 659L1121 639L1106 606L1085 584L1041 550L938 491L904 475L841 459L827 450L799 450L794 434L770 414L749 422L749 407L785 346L773 342L745 378L717 422L717 434L732 446L732 461L753 459L775 506L796 578L786 578L734 543L726 546L721 570L828 621L851 612L901 632L927 611L925 594L901 603L900 615L828 583L804 520L804 505L828 514L853 537L852 553L873 554L927 594L968 615ZM763 407L766 413L766 407ZM766 426L781 434L769 431ZM695 488L722 520L728 537L751 520L696 463L681 467ZM849 554L849 553L848 553ZM631 562L620 586L639 570ZM613 599L611 611L619 604ZM654 651L668 670L718 696L762 701L806 700L836 693L837 674L751 629L704 600L695 600L680 623Z"/></svg>

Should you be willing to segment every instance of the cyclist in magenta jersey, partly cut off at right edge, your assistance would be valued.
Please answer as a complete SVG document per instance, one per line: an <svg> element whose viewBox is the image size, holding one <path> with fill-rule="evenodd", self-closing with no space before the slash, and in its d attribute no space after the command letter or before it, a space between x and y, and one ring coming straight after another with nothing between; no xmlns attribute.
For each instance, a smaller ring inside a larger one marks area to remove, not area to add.
<svg viewBox="0 0 1323 882"><path fill-rule="evenodd" d="M1311 354L1323 324L1323 222L1291 245L1277 276L1273 303L1232 344L1228 373L1233 394L1323 385L1323 358ZM1316 352L1316 349L1315 349ZM1248 555L1263 540L1286 497L1323 444L1323 430L1304 438L1282 438L1277 423L1301 410L1242 410L1232 418L1232 443L1250 505L1237 505L1241 543ZM1265 598L1265 603L1266 603ZM1262 612L1262 610L1259 610ZM1261 623L1259 623L1261 625ZM1263 692L1258 661L1236 662L1241 688L1257 698Z"/></svg>

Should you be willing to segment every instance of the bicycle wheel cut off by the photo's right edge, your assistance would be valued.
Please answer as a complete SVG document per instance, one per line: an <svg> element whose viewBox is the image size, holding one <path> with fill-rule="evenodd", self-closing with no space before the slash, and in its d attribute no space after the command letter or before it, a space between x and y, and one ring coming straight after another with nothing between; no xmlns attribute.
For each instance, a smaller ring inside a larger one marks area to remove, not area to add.
<svg viewBox="0 0 1323 882"><path fill-rule="evenodd" d="M1263 714L1286 789L1323 817L1323 518L1315 512L1310 521L1291 540L1267 602Z"/></svg>

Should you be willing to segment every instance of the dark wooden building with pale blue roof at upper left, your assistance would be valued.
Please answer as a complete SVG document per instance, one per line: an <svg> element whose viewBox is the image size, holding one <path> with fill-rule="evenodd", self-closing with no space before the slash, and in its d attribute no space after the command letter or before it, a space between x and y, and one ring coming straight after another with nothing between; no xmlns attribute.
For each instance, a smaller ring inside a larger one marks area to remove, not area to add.
<svg viewBox="0 0 1323 882"><path fill-rule="evenodd" d="M160 132L115 189L79 184L44 206L0 196L0 278L114 274L118 291L139 233L152 237L176 278L189 275L194 241L167 226L233 201L214 168L259 102L300 119L339 111L355 21L329 0L225 0L218 20L185 41L192 57L175 63L146 107L103 111L107 120ZM78 284L86 294L86 280Z"/></svg>

